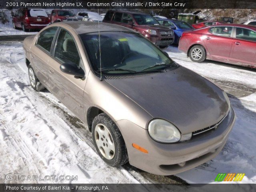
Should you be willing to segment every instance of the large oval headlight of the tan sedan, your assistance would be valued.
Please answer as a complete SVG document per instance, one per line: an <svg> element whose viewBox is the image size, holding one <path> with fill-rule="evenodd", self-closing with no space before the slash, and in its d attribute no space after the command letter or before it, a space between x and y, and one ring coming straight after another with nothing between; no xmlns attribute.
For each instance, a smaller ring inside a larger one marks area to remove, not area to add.
<svg viewBox="0 0 256 192"><path fill-rule="evenodd" d="M148 124L148 133L152 139L162 143L174 143L180 140L180 131L170 122L154 119Z"/></svg>

